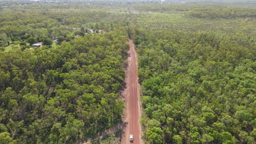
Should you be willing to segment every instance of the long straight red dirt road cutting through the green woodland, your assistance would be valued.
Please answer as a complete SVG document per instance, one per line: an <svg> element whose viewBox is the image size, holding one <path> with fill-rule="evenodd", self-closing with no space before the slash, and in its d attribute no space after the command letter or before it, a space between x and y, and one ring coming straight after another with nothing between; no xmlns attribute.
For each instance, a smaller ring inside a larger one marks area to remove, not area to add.
<svg viewBox="0 0 256 144"><path fill-rule="evenodd" d="M132 41L128 41L130 46L128 57L129 66L126 70L126 89L123 93L125 99L125 119L126 127L124 129L123 139L121 143L143 143L141 139L141 109L139 103L138 76L137 76L137 55ZM130 142L130 135L133 135L133 142Z"/></svg>

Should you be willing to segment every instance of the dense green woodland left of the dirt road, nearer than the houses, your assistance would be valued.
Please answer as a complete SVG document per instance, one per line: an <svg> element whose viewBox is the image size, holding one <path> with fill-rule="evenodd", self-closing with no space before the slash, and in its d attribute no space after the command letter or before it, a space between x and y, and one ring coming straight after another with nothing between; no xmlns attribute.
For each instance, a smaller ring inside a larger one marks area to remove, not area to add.
<svg viewBox="0 0 256 144"><path fill-rule="evenodd" d="M11 142L10 133L20 143L75 143L119 123L126 38L116 30L57 49L1 52L3 139Z"/></svg>

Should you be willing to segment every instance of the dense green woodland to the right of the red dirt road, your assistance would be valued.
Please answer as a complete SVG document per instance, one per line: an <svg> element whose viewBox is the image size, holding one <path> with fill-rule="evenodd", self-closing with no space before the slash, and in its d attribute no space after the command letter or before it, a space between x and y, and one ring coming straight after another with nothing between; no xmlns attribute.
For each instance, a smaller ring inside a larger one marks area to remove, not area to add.
<svg viewBox="0 0 256 144"><path fill-rule="evenodd" d="M223 31L230 27L225 23L251 19L253 9L202 7L189 5L184 16L167 14L168 8L138 16L145 25L130 32L139 54L145 137L153 142L150 128L159 127L162 143L255 143L255 43L243 36L251 39L252 31ZM195 18L196 11L205 16Z"/></svg>

